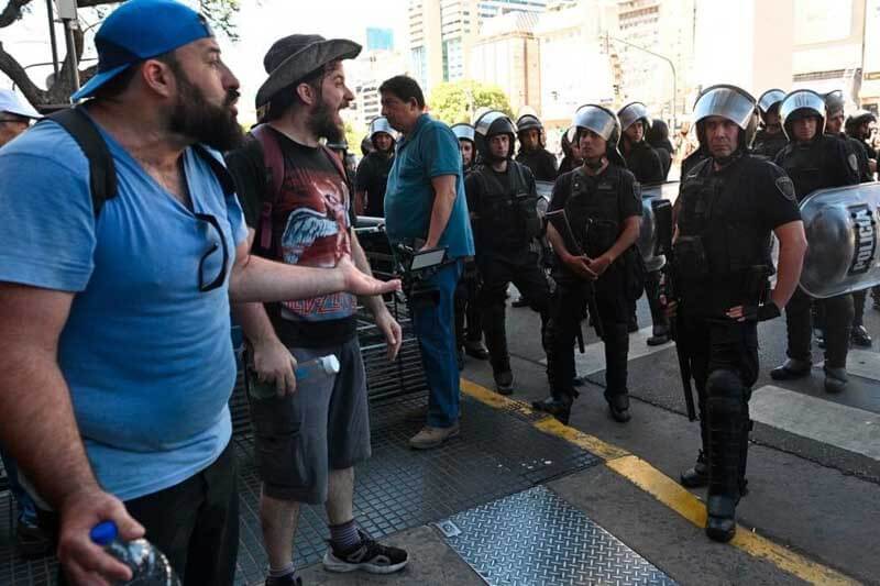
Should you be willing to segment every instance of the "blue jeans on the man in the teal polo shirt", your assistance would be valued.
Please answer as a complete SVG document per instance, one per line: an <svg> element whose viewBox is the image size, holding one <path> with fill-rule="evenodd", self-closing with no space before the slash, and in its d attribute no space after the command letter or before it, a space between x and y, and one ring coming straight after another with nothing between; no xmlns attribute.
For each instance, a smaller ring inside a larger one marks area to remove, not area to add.
<svg viewBox="0 0 880 586"><path fill-rule="evenodd" d="M462 262L448 265L430 279L437 303L415 303L413 327L419 340L428 380L428 425L451 428L459 420L459 364L455 358L454 297Z"/></svg>

